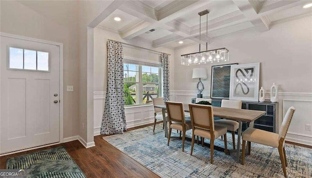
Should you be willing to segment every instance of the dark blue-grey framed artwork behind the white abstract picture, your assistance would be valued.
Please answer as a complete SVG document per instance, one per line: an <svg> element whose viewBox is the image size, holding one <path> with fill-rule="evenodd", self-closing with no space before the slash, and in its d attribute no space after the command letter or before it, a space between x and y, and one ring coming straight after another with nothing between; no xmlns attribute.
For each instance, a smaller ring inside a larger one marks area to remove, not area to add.
<svg viewBox="0 0 312 178"><path fill-rule="evenodd" d="M215 65L211 67L211 91L210 98L230 98L231 66L238 63Z"/></svg>

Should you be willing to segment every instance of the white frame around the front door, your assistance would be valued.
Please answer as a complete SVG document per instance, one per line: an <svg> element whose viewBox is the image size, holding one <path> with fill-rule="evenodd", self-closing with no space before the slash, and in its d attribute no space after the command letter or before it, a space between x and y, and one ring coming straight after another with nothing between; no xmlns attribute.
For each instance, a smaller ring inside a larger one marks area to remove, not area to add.
<svg viewBox="0 0 312 178"><path fill-rule="evenodd" d="M51 45L56 45L59 46L59 142L58 143L52 143L52 144L48 144L48 145L43 145L43 146L39 146L39 147L45 147L45 146L49 146L49 145L54 145L54 144L59 144L63 142L63 107L64 107L64 98L63 98L63 43L59 43L59 42L53 42L53 41L47 41L47 40L39 40L39 39L35 39L35 38L30 38L30 37L23 37L23 36L19 36L19 35L13 35L13 34L8 34L8 33L3 33L0 32L0 36L2 37L9 37L9 38L13 38L13 39L19 39L19 40L28 40L28 41L33 41L33 42L40 42L40 43L45 43L45 44L51 44ZM0 68L1 70L1 68ZM0 96L1 98L1 96ZM11 153L7 153L7 154L2 154L2 155L8 155L8 154L13 154L13 153L18 153L18 152L22 152L22 151L26 151L26 150L31 150L31 149L36 149L39 147L34 147L34 148L30 148L30 149L24 149L24 150L20 150L20 151L15 151L15 152L11 152ZM1 156L2 156L1 155Z"/></svg>

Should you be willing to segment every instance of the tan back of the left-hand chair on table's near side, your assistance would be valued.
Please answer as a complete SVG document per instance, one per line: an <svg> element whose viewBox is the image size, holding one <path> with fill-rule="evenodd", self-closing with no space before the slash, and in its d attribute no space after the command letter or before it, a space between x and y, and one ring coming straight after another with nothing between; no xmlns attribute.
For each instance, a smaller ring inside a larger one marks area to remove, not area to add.
<svg viewBox="0 0 312 178"><path fill-rule="evenodd" d="M168 120L171 123L172 121L185 123L184 108L182 102L172 102L166 101L166 108L168 113Z"/></svg>

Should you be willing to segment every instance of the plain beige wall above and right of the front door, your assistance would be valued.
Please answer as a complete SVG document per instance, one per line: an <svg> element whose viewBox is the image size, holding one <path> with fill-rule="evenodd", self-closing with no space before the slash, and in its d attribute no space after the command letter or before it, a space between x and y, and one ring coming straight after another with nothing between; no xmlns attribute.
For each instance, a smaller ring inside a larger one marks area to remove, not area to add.
<svg viewBox="0 0 312 178"><path fill-rule="evenodd" d="M79 60L77 1L0 1L0 31L64 44L64 134L79 133ZM66 92L74 85L74 92Z"/></svg>

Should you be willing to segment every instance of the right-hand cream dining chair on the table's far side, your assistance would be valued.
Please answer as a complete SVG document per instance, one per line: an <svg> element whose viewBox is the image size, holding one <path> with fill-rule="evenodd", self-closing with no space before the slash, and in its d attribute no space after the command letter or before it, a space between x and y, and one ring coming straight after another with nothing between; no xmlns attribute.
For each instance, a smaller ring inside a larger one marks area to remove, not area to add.
<svg viewBox="0 0 312 178"><path fill-rule="evenodd" d="M222 99L221 107L241 109L242 101ZM215 120L215 125L227 127L228 131L232 132L233 149L235 150L235 131L238 129L239 123L234 120L219 119L219 120ZM237 140L237 141L240 141L240 140Z"/></svg>

